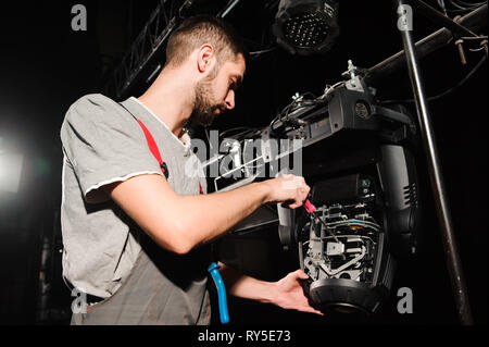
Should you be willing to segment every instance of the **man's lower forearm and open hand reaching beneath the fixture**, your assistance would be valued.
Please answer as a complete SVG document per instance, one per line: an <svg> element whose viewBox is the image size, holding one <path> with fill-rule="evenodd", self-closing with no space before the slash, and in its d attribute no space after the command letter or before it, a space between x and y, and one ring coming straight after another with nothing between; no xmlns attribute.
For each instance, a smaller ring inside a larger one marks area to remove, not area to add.
<svg viewBox="0 0 489 347"><path fill-rule="evenodd" d="M226 290L238 298L256 300L263 303L273 303L284 309L323 314L309 303L309 299L300 284L300 280L309 276L297 270L277 282L260 281L242 273L231 267L220 262Z"/></svg>

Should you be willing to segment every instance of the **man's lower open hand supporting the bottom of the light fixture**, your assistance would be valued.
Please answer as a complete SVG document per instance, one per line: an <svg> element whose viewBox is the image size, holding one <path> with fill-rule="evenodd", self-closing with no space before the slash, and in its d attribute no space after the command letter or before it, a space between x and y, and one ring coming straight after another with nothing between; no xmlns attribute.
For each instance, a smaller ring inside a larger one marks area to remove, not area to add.
<svg viewBox="0 0 489 347"><path fill-rule="evenodd" d="M289 273L280 281L273 283L276 295L274 296L272 303L284 309L324 315L309 303L304 289L300 284L300 280L306 280L308 277L309 276L302 270L297 270Z"/></svg>

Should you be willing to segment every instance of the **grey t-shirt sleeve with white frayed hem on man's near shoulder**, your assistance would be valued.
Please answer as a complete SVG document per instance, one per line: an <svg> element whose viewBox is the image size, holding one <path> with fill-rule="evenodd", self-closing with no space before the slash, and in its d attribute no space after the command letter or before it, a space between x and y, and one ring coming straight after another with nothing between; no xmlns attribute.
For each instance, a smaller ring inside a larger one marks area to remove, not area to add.
<svg viewBox="0 0 489 347"><path fill-rule="evenodd" d="M76 101L65 115L60 137L89 203L109 199L99 189L103 185L141 174L163 175L136 119L102 95Z"/></svg>

